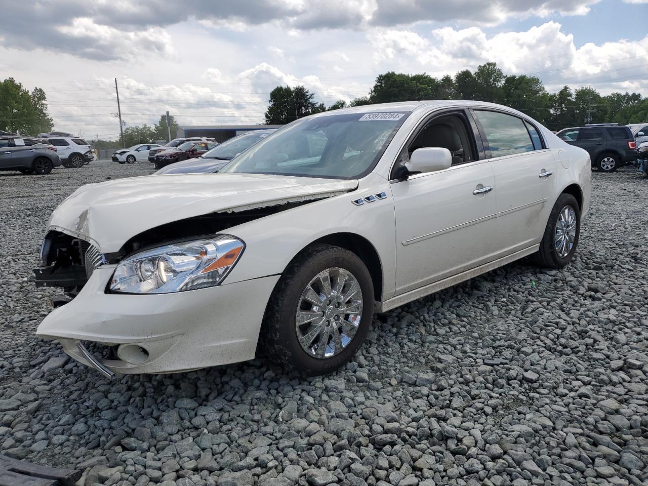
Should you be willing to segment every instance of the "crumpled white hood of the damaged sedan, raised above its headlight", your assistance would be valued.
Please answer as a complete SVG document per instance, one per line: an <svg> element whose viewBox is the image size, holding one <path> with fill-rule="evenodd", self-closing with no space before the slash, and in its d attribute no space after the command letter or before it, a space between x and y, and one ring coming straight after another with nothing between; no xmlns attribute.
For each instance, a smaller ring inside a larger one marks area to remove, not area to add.
<svg viewBox="0 0 648 486"><path fill-rule="evenodd" d="M115 253L139 233L209 213L317 200L354 191L357 180L268 174L170 174L87 184L54 210L48 230Z"/></svg>

